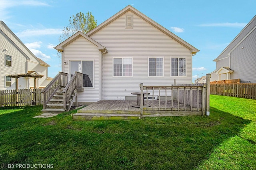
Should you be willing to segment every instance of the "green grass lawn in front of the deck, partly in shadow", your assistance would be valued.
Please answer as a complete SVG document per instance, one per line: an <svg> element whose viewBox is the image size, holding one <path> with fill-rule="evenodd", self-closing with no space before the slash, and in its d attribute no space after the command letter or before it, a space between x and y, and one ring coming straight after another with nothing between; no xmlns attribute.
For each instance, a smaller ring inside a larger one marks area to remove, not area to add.
<svg viewBox="0 0 256 170"><path fill-rule="evenodd" d="M73 121L71 114L76 110L32 118L40 115L41 109L0 108L1 166L256 169L256 100L211 95L209 117L130 121Z"/></svg>

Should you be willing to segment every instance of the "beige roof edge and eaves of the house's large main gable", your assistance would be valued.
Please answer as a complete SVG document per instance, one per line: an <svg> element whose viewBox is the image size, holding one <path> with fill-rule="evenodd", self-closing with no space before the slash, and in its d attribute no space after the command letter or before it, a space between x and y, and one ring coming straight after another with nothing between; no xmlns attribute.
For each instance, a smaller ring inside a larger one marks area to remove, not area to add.
<svg viewBox="0 0 256 170"><path fill-rule="evenodd" d="M94 29L89 31L88 33L86 33L86 35L88 37L92 36L94 33L100 31L100 29L106 27L108 24L112 23L114 20L116 20L117 18L119 18L120 16L122 16L123 14L125 14L128 11L134 13L136 16L142 18L142 20L150 23L151 25L153 25L154 27L156 27L157 29L159 29L160 31L162 31L163 33L165 33L166 35L168 35L169 37L171 37L172 39L174 39L175 41L177 41L178 43L180 43L187 49L189 49L192 54L196 54L199 51L194 46L190 45L189 43L187 43L186 41L184 41L183 39L181 39L180 37L178 37L171 31L164 28L162 25L156 23L152 19L148 18L146 15L142 14L140 11L136 10L134 7L132 7L130 5L126 6L120 12L116 13L114 16L110 17L108 20L104 21L103 23L101 23L100 25L98 25L97 27L95 27Z"/></svg>

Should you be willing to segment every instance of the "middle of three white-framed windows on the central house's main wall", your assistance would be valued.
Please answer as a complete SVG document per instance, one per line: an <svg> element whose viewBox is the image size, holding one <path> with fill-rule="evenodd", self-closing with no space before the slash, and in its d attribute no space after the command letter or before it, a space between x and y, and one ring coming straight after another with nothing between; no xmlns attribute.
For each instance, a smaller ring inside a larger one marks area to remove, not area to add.
<svg viewBox="0 0 256 170"><path fill-rule="evenodd" d="M148 75L164 76L164 58L148 58Z"/></svg>

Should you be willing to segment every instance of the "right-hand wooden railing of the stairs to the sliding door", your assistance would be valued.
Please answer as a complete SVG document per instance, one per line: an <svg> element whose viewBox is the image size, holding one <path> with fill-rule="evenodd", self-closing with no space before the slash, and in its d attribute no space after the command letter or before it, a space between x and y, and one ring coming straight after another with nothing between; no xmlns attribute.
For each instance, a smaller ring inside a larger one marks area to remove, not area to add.
<svg viewBox="0 0 256 170"><path fill-rule="evenodd" d="M63 93L63 109L68 109L67 111L70 110L74 100L76 99L77 101L77 90L78 88L82 88L83 80L83 74L80 72L75 72L74 76L70 79L64 90L62 91Z"/></svg>

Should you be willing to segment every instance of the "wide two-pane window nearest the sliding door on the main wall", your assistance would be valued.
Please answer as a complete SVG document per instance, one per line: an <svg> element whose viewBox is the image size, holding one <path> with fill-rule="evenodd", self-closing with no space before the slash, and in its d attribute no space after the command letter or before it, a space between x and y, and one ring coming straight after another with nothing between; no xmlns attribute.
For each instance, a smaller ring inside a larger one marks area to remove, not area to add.
<svg viewBox="0 0 256 170"><path fill-rule="evenodd" d="M114 58L114 76L132 76L132 58Z"/></svg>

